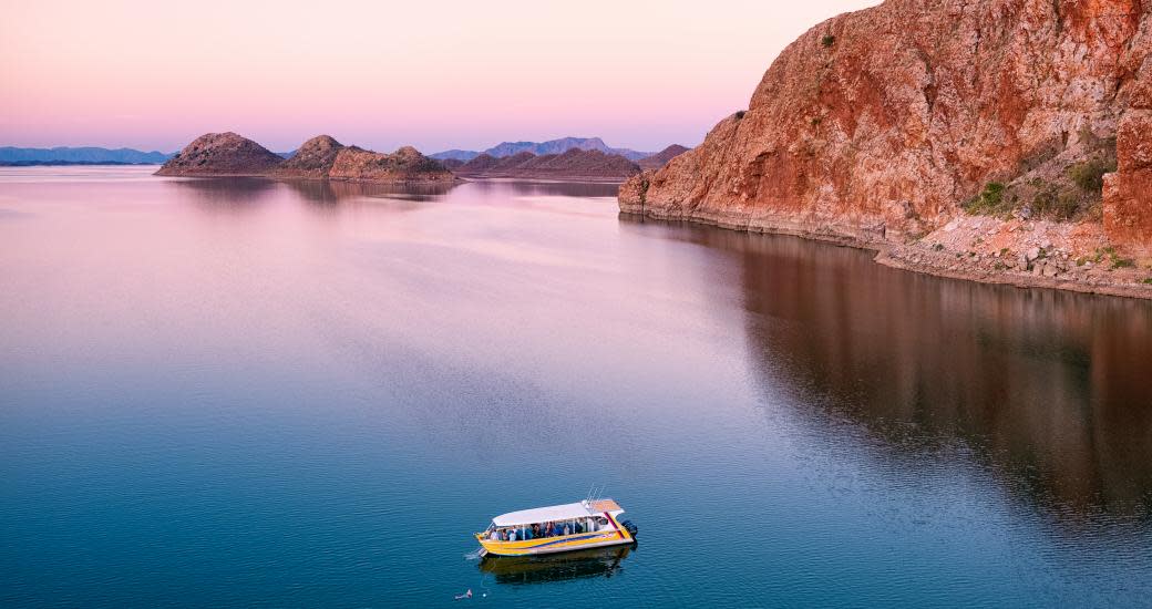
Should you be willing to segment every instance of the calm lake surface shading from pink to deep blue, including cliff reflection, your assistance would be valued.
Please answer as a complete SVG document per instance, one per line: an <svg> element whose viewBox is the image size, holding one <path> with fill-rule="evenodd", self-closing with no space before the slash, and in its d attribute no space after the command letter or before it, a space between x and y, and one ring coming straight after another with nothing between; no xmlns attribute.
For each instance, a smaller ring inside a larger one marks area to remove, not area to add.
<svg viewBox="0 0 1152 609"><path fill-rule="evenodd" d="M0 606L1152 599L1152 303L152 169L0 172ZM473 557L594 484L637 547Z"/></svg>

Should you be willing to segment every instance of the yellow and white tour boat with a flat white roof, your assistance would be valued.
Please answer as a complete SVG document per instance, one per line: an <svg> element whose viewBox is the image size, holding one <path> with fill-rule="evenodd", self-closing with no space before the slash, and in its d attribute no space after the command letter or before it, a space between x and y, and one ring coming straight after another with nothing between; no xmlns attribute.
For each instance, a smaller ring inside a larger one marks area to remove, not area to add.
<svg viewBox="0 0 1152 609"><path fill-rule="evenodd" d="M521 510L497 516L476 540L485 554L531 556L636 542L636 526L611 498Z"/></svg>

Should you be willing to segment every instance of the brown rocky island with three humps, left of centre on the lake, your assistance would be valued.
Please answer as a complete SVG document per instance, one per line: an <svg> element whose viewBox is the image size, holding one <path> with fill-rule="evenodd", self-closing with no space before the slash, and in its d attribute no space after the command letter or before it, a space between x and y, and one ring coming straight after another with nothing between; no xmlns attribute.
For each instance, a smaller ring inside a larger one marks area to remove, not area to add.
<svg viewBox="0 0 1152 609"><path fill-rule="evenodd" d="M156 173L164 176L259 176L336 180L364 183L439 183L456 180L440 161L411 146L392 154L344 146L331 136L317 136L285 159L233 132L206 134Z"/></svg>

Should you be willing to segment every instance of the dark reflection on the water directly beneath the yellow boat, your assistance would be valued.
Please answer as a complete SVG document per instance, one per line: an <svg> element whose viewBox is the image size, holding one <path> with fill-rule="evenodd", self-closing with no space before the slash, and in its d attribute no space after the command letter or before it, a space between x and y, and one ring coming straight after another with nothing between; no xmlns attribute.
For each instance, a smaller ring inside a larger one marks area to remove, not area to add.
<svg viewBox="0 0 1152 609"><path fill-rule="evenodd" d="M479 569L503 585L609 578L623 569L624 558L634 550L635 546L617 546L544 556L485 556Z"/></svg>

